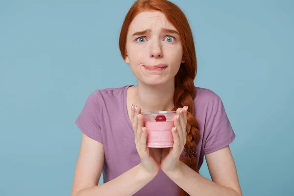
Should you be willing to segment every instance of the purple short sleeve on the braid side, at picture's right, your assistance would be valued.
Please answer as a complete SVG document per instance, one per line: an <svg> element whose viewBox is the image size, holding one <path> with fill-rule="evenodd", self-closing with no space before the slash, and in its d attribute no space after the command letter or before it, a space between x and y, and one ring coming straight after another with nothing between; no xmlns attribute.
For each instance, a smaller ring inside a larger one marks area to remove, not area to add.
<svg viewBox="0 0 294 196"><path fill-rule="evenodd" d="M217 105L208 118L209 124L207 126L208 133L206 134L204 154L217 151L229 145L236 137L221 98L219 98Z"/></svg>

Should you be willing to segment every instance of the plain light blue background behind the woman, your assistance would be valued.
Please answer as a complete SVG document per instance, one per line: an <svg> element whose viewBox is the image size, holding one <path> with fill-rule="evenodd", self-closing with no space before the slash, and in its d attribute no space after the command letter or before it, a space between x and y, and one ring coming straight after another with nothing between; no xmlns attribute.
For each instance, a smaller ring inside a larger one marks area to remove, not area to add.
<svg viewBox="0 0 294 196"><path fill-rule="evenodd" d="M133 2L0 0L0 196L70 195L86 98L136 84L118 48ZM293 195L294 1L173 2L194 32L195 84L237 135L244 195Z"/></svg>

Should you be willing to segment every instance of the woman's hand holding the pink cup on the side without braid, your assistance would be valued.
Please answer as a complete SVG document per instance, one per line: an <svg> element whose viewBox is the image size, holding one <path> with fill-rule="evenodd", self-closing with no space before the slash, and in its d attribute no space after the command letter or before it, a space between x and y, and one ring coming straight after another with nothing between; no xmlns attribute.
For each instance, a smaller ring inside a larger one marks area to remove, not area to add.
<svg viewBox="0 0 294 196"><path fill-rule="evenodd" d="M135 133L135 144L141 159L141 166L146 172L155 176L161 161L160 148L147 147L147 129L143 127L143 116L139 106L132 105L131 122Z"/></svg>

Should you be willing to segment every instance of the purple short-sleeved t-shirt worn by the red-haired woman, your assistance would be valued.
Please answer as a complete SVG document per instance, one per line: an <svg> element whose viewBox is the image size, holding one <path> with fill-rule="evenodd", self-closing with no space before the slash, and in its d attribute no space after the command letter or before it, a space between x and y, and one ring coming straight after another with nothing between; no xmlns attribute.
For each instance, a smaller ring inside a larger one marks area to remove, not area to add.
<svg viewBox="0 0 294 196"><path fill-rule="evenodd" d="M96 90L86 101L76 120L79 129L104 146L104 183L138 165L134 132L127 114L126 94L129 86ZM211 90L196 88L194 114L199 124L200 139L196 144L200 169L204 154L229 145L235 133L221 98ZM134 196L178 196L179 187L161 170Z"/></svg>

